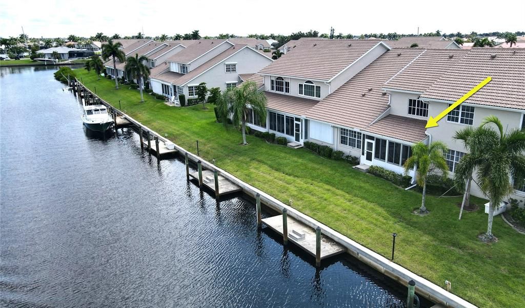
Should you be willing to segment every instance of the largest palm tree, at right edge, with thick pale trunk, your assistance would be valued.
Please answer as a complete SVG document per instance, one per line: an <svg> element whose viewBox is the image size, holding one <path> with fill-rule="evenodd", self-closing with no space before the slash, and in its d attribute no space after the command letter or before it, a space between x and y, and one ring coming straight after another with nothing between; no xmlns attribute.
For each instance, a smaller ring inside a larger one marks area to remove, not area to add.
<svg viewBox="0 0 525 308"><path fill-rule="evenodd" d="M467 153L459 162L456 178L465 181L470 166L476 164L476 178L481 191L489 199L489 217L484 240L492 241L494 210L513 191L510 179L525 178L525 131L512 129L503 133L503 125L496 116L488 116L467 139L469 148L476 147L474 155ZM474 161L474 162L472 162Z"/></svg>

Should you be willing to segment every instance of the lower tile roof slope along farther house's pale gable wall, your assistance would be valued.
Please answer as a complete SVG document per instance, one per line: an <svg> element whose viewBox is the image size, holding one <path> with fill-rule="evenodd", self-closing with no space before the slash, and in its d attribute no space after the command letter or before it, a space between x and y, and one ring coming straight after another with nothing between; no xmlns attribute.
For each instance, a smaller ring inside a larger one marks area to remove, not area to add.
<svg viewBox="0 0 525 308"><path fill-rule="evenodd" d="M206 61L205 63L200 65L198 68L190 71L187 74L178 74L178 73L170 72L169 71L170 65L166 61L164 63L161 63L160 65L157 65L153 69L151 69L150 76L153 79L158 79L158 80L162 80L165 82L171 82L175 85L182 86L186 84L187 82L191 81L192 79L194 79L195 77L197 77L198 75L204 73L204 71L213 67L215 64L222 62L226 58L232 56L234 53L236 53L237 51L245 47L248 48L247 46L240 46L240 45L232 46L226 49L225 51L219 53L217 56L213 57L212 59Z"/></svg>

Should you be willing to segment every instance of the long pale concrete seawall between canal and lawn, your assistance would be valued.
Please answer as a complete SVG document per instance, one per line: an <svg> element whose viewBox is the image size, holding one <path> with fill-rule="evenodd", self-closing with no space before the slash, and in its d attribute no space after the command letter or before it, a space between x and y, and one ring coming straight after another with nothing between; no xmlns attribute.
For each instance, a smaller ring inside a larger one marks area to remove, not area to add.
<svg viewBox="0 0 525 308"><path fill-rule="evenodd" d="M83 85L82 85L83 86ZM98 97L95 93L91 92L89 89L86 88L87 91ZM111 106L106 101L102 100L100 97L98 97L100 101L111 108L118 111L118 109ZM118 111L118 113L123 114L121 111ZM125 114L123 114L125 115ZM151 130L147 126L141 124L137 120L133 119L132 117L125 115L131 123L133 123L136 126L142 126L143 129L149 130L152 134L159 137L159 140L163 141L171 141L169 139L166 139L162 137L160 134L156 133L155 131ZM243 192L253 196L255 198L255 195L257 193L260 194L261 202L266 204L268 207L272 208L273 210L277 212L282 212L283 208L286 208L288 211L288 216L295 218L297 221L302 222L312 228L316 228L317 226L321 227L322 234L332 238L333 240L337 241L337 243L344 246L348 253L355 257L356 259L361 260L366 265L369 265L370 267L376 269L377 271L383 273L385 276L390 277L393 280L398 281L399 283L403 285L407 285L409 280L414 280L416 282L416 293L418 295L421 295L428 300L435 302L437 304L442 304L446 307L476 307L474 304L471 304L470 302L467 302L466 300L460 298L459 296L450 293L446 291L445 289L439 287L438 285L428 281L427 279L418 276L417 274L405 269L404 267L392 262L391 260L388 260L387 258L377 254L376 252L372 251L369 248L364 247L363 245L357 243L356 241L340 234L339 232L333 230L332 228L316 221L315 219L297 211L295 208L290 207L286 205L285 203L277 200L276 198L272 197L271 195L265 193L264 191L261 191L254 186L249 185L248 183L245 183L235 177L233 174L228 173L227 171L218 168L213 163L210 163L206 160L204 160L201 157L196 156L195 154L187 151L183 147L180 147L175 144L175 149L177 149L181 155L184 155L184 153L188 153L188 159L196 162L200 160L202 162L203 169L208 169L212 171L217 171L220 175L222 175L224 178L228 179L229 181L232 181L233 183L239 185ZM255 219L255 217L254 217Z"/></svg>

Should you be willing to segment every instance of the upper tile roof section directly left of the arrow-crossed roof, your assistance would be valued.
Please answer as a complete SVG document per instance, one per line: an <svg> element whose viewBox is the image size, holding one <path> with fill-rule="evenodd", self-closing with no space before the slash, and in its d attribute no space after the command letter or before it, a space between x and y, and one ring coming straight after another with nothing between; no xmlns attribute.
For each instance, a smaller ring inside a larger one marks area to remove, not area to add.
<svg viewBox="0 0 525 308"><path fill-rule="evenodd" d="M386 82L384 87L423 93L467 53L468 50L463 49L423 50L419 57Z"/></svg>

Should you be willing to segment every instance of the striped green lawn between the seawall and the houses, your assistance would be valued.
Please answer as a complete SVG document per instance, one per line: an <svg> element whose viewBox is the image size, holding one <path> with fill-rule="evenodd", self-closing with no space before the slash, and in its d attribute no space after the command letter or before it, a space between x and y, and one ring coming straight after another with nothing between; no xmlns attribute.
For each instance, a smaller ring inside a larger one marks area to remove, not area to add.
<svg viewBox="0 0 525 308"><path fill-rule="evenodd" d="M217 166L277 197L303 213L332 227L362 245L390 258L392 233L397 233L395 261L407 269L445 286L481 307L525 306L525 236L497 216L493 245L482 244L477 235L485 232L485 201L472 198L477 212L464 213L458 221L460 197L428 196L430 215L411 212L421 205L421 194L404 191L390 182L353 170L343 161L319 157L306 149L270 145L247 136L240 146L240 132L215 123L212 106L169 107L138 90L114 81L97 80L95 73L75 70L86 86L126 113L176 144L201 156L215 159Z"/></svg>

